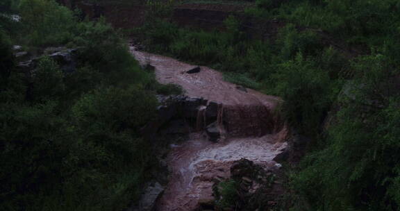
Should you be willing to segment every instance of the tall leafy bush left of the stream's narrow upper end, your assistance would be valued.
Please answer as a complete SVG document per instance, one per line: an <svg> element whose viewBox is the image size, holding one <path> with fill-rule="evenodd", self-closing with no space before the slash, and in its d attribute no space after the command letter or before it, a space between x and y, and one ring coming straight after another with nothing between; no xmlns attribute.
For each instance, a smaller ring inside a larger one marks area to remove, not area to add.
<svg viewBox="0 0 400 211"><path fill-rule="evenodd" d="M128 50L128 44L104 19L81 22L74 29L74 43L81 47L78 58L103 74L103 83L127 87L133 83L147 83L150 75L139 68Z"/></svg>

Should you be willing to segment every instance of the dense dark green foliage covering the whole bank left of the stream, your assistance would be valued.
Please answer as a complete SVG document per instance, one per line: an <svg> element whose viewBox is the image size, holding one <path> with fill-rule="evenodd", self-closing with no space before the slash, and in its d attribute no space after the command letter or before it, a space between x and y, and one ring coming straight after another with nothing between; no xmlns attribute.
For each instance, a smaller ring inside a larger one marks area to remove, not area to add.
<svg viewBox="0 0 400 211"><path fill-rule="evenodd" d="M24 0L16 12L21 22L0 23L0 210L126 209L157 165L140 133L155 94L179 90L140 69L101 20L78 22L53 0ZM42 56L28 76L16 43L32 53L77 47L76 70Z"/></svg>

